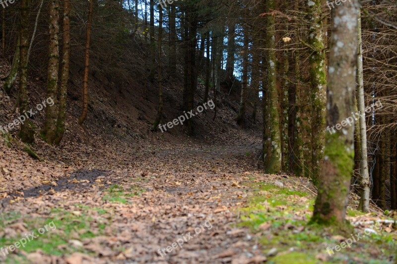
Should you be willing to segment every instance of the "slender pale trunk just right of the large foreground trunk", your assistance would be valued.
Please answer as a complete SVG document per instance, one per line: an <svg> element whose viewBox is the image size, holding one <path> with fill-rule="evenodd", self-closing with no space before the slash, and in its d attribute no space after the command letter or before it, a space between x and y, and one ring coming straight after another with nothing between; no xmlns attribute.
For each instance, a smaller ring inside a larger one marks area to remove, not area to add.
<svg viewBox="0 0 397 264"><path fill-rule="evenodd" d="M368 153L367 153L367 123L365 120L365 100L364 100L364 77L363 77L363 46L361 37L361 10L358 12L358 56L357 56L357 102L360 124L360 207L359 210L369 211L370 179L368 172Z"/></svg>

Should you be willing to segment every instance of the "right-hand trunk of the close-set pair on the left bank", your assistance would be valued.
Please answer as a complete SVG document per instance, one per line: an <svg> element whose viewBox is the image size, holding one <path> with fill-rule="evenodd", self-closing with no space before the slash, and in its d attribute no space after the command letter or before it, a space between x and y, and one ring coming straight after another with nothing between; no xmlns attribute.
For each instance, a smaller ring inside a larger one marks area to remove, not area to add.
<svg viewBox="0 0 397 264"><path fill-rule="evenodd" d="M61 86L58 97L58 119L55 144L59 145L65 134L67 82L69 80L69 55L70 55L70 0L64 0L64 23L63 23L63 48L62 48L62 70Z"/></svg>

